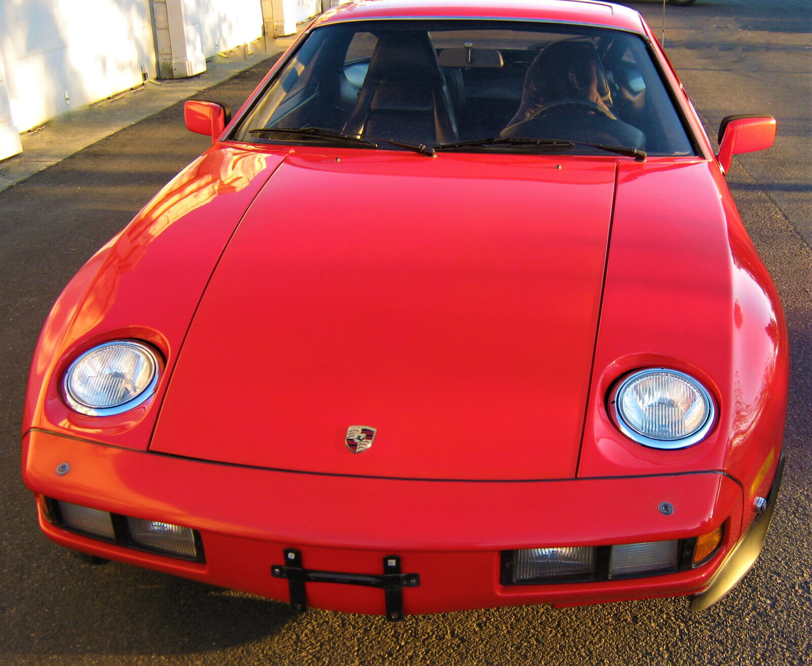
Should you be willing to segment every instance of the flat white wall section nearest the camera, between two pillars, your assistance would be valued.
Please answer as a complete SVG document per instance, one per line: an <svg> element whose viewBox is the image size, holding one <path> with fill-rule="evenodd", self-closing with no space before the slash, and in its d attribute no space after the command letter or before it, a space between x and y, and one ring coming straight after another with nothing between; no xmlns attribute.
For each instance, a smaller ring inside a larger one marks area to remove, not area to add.
<svg viewBox="0 0 812 666"><path fill-rule="evenodd" d="M2 0L0 53L20 131L155 75L149 0Z"/></svg>

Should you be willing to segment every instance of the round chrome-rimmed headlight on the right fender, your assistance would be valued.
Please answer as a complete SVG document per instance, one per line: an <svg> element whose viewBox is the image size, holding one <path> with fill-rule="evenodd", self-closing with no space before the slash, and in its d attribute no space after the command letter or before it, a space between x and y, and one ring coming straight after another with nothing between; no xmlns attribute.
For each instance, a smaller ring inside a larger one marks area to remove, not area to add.
<svg viewBox="0 0 812 666"><path fill-rule="evenodd" d="M611 394L615 421L625 436L655 449L683 449L705 438L714 404L693 377L676 370L634 372Z"/></svg>

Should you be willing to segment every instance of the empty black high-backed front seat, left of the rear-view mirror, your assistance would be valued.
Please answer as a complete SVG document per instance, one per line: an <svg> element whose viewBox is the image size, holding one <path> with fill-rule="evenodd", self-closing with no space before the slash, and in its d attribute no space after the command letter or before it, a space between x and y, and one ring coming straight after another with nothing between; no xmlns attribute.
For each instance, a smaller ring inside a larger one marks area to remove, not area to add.
<svg viewBox="0 0 812 666"><path fill-rule="evenodd" d="M427 32L378 37L343 131L427 145L457 140L456 118Z"/></svg>

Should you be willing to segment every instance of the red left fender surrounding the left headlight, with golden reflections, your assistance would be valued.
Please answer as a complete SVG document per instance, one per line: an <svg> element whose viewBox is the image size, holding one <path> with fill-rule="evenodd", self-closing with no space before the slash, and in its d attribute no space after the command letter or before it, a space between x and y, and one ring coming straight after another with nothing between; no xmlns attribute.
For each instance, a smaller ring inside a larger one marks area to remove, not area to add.
<svg viewBox="0 0 812 666"><path fill-rule="evenodd" d="M161 402L165 382L154 400L97 419L65 404L59 378L82 351L119 337L161 350L171 375L223 247L285 153L287 148L212 148L84 264L42 327L28 376L23 432L37 428L146 449L157 411L150 403Z"/></svg>

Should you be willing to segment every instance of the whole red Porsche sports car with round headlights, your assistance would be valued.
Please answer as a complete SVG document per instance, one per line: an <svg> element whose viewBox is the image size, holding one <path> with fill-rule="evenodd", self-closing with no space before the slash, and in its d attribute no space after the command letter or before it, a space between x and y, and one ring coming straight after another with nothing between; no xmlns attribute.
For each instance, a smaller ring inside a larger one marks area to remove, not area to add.
<svg viewBox="0 0 812 666"><path fill-rule="evenodd" d="M361 613L719 599L784 317L637 11L351 2L59 297L23 474L67 548Z"/></svg>

